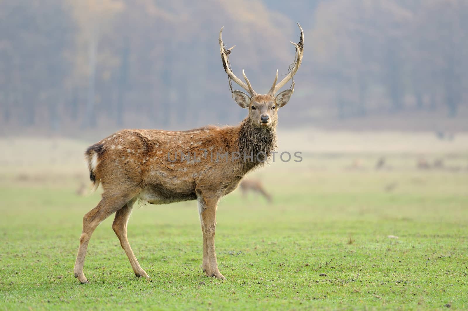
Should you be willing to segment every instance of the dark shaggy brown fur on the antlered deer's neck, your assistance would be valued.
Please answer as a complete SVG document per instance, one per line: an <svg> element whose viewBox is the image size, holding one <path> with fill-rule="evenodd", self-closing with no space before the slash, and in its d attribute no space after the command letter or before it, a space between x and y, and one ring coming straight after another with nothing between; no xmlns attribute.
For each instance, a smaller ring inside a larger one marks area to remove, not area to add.
<svg viewBox="0 0 468 311"><path fill-rule="evenodd" d="M267 128L259 128L244 119L239 126L237 146L241 153L241 170L245 174L255 167L260 167L271 157L276 146L276 122ZM244 160L244 155L246 158ZM253 155L253 159L247 156ZM258 155L258 156L257 156Z"/></svg>

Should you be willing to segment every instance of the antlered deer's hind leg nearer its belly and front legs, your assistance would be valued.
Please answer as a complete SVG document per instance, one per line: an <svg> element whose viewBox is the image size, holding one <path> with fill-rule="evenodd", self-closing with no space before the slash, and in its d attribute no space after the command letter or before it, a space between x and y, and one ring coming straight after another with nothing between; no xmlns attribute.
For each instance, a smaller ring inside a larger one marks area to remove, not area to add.
<svg viewBox="0 0 468 311"><path fill-rule="evenodd" d="M127 239L127 223L132 213L133 203L135 202L134 199L130 200L127 204L124 205L120 210L116 212L116 217L114 219L114 223L112 224L112 229L116 233L119 241L120 246L124 249L125 254L127 254L128 260L132 265L133 272L135 272L135 276L138 277L146 277L149 278L148 274L140 267L140 264L133 254L132 247L130 247L130 243Z"/></svg>

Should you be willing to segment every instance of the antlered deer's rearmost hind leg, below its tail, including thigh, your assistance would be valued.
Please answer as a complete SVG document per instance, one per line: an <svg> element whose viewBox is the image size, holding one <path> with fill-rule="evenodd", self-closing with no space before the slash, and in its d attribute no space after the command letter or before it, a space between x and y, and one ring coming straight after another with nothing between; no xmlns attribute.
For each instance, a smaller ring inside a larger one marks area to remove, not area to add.
<svg viewBox="0 0 468 311"><path fill-rule="evenodd" d="M114 212L121 209L129 200L132 199L134 194L123 195L107 195L106 192L102 194L102 199L99 204L91 211L86 213L83 217L83 231L80 236L80 247L76 255L76 262L73 272L75 277L78 278L80 283L89 283L88 279L83 273L83 265L86 257L86 249L88 248L89 240L96 227Z"/></svg>

